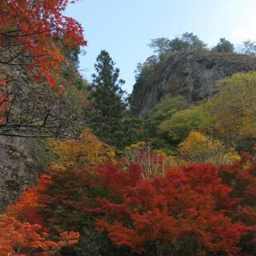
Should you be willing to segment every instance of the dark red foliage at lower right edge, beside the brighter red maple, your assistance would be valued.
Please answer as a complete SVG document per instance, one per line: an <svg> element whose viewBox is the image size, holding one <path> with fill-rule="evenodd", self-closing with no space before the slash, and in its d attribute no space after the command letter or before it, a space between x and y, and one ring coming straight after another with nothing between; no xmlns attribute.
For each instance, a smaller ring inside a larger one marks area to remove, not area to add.
<svg viewBox="0 0 256 256"><path fill-rule="evenodd" d="M232 187L231 198L240 198L239 206L230 212L230 217L250 227L249 234L242 238L241 246L246 255L256 251L256 162L244 154L242 162L234 166L221 166L219 175L226 185Z"/></svg>

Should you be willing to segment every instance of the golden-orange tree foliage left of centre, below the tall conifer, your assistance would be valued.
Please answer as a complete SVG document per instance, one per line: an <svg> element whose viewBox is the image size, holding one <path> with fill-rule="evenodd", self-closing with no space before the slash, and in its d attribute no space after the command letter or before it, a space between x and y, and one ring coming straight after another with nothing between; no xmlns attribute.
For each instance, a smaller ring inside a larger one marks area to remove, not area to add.
<svg viewBox="0 0 256 256"><path fill-rule="evenodd" d="M101 142L90 130L84 130L78 139L48 140L50 150L60 158L52 168L63 166L98 166L106 162L114 162L115 152L110 146Z"/></svg>

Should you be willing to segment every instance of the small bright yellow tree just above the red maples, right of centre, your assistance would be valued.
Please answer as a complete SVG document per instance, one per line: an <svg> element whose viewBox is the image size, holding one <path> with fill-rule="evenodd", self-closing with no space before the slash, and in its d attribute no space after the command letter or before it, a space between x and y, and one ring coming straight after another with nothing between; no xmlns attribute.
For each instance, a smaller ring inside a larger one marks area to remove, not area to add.
<svg viewBox="0 0 256 256"><path fill-rule="evenodd" d="M204 134L190 132L184 142L178 145L181 158L188 162L211 162L216 165L231 164L240 159L233 148L226 146Z"/></svg>

